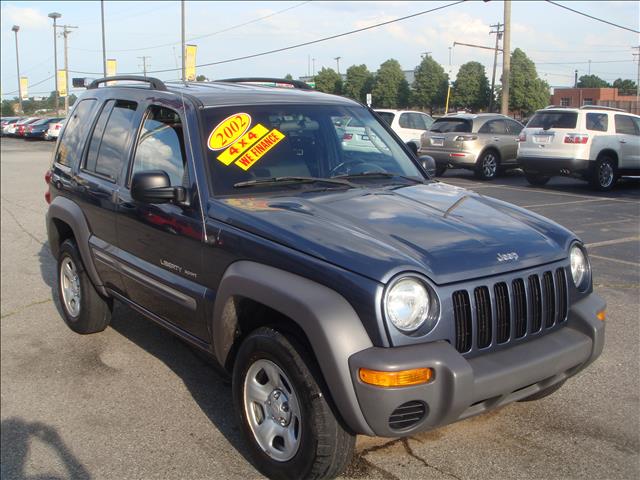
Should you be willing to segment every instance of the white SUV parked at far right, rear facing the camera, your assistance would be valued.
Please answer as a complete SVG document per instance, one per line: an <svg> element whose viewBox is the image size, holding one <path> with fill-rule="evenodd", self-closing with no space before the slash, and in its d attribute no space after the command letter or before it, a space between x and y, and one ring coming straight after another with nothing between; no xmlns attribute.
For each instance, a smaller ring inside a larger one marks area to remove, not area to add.
<svg viewBox="0 0 640 480"><path fill-rule="evenodd" d="M533 185L570 175L610 190L640 175L640 116L595 105L538 110L520 132L518 163Z"/></svg>

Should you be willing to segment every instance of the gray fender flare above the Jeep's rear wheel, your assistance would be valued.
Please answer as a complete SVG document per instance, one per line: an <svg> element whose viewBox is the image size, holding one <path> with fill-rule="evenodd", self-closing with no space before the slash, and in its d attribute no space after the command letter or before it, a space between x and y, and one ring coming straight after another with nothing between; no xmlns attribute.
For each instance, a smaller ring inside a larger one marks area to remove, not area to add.
<svg viewBox="0 0 640 480"><path fill-rule="evenodd" d="M91 256L91 250L89 248L89 238L91 237L91 231L89 230L89 224L85 218L82 210L77 203L72 202L66 197L56 197L49 205L47 211L47 235L49 238L49 249L51 250L54 258L58 258L59 245L57 228L54 224L54 219L61 220L73 231L73 235L76 238L76 244L80 251L80 257L82 257L82 263L84 268L91 279L91 282L96 287L96 290L104 296L107 296L107 291L104 288L102 280L98 275L95 265L93 264L93 257Z"/></svg>

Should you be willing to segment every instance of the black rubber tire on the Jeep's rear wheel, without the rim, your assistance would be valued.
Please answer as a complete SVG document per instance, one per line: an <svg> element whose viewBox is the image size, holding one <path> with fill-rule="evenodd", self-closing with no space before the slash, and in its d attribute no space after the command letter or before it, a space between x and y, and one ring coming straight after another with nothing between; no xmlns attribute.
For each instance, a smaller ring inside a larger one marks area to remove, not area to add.
<svg viewBox="0 0 640 480"><path fill-rule="evenodd" d="M68 277L63 273L63 269L71 262L73 270L77 275L76 282L68 282ZM67 326L76 333L89 334L103 331L111 322L112 300L103 298L91 283L91 279L82 263L80 252L73 240L65 240L60 246L58 256L58 299L62 308L64 321ZM67 278L66 280L63 277ZM79 290L79 301L65 300L66 294L63 284L74 283ZM73 306L72 306L73 305ZM77 311L73 311L77 305Z"/></svg>

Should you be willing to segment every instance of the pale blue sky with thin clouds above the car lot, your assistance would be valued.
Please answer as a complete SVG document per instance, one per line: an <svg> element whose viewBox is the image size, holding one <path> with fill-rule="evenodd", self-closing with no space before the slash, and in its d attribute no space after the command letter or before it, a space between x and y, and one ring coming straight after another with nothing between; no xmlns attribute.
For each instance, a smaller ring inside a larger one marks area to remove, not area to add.
<svg viewBox="0 0 640 480"><path fill-rule="evenodd" d="M185 2L187 43L198 46L196 63L235 59L309 42L349 30L411 15L449 2ZM612 23L639 30L640 2L559 2ZM104 2L107 58L118 62L118 73L142 72L142 56L149 72L180 67L179 1ZM54 89L53 27L47 17L59 12L58 25L78 27L68 36L69 77L101 77L102 37L99 1L1 1L1 87L3 98L17 94L15 37L18 32L20 73L29 78L29 95ZM322 67L346 72L364 63L375 71L389 58L410 70L429 52L452 77L460 65L476 60L491 76L493 52L455 46L453 42L493 46L490 25L502 22L503 2L467 1L365 32L285 52L197 69L210 79L268 76L294 78ZM536 63L538 74L551 86L572 86L574 70L612 82L636 80L633 46L640 36L582 17L545 1L512 2L511 48L521 48ZM452 47L452 48L450 48ZM637 51L637 50L636 50ZM500 56L501 57L501 56ZM497 78L500 77L499 57ZM591 63L589 63L591 60ZM63 40L58 39L58 68L63 68ZM179 70L149 73L177 80ZM49 79L49 77L51 77ZM72 89L72 91L74 91Z"/></svg>

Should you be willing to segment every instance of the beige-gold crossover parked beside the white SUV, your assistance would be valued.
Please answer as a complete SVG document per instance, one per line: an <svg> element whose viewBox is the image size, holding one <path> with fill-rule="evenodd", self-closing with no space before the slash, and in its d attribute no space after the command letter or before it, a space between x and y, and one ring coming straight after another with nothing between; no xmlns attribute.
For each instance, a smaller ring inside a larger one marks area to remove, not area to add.
<svg viewBox="0 0 640 480"><path fill-rule="evenodd" d="M453 114L438 118L420 138L420 155L436 160L437 174L447 168L473 170L483 180L518 167L518 135L524 126L495 113Z"/></svg>

